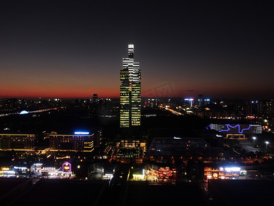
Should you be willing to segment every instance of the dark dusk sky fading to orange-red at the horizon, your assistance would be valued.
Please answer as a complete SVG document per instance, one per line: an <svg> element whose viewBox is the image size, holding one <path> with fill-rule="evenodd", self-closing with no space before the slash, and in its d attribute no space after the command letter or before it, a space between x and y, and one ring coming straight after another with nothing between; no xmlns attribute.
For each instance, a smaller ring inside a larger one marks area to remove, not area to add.
<svg viewBox="0 0 274 206"><path fill-rule="evenodd" d="M119 97L128 44L144 97L274 98L271 1L90 2L0 1L0 98Z"/></svg>

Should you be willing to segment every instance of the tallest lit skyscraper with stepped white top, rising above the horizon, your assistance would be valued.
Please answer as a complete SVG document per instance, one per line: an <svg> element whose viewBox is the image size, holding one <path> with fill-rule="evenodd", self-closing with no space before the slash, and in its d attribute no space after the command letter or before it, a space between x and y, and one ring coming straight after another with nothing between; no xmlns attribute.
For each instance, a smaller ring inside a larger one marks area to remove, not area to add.
<svg viewBox="0 0 274 206"><path fill-rule="evenodd" d="M120 71L120 127L140 126L141 72L139 62L134 62L134 45L128 45L128 58L123 58Z"/></svg>

